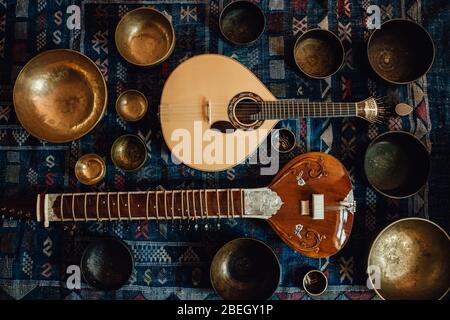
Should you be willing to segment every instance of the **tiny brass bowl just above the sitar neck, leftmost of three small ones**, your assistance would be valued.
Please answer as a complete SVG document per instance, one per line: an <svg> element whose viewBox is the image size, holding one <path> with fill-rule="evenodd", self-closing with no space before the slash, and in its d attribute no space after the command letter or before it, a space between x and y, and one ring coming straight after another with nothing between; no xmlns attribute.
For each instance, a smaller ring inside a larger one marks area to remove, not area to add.
<svg viewBox="0 0 450 320"><path fill-rule="evenodd" d="M105 161L95 153L88 153L80 157L75 164L75 176L85 185L100 182L106 174Z"/></svg>

